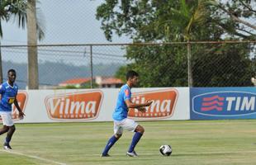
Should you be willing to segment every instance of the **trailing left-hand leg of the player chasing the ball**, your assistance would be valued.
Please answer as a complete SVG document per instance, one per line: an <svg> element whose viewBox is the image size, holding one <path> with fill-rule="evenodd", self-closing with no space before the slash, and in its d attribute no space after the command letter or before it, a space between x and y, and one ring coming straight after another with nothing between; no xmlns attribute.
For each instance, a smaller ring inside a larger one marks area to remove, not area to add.
<svg viewBox="0 0 256 165"><path fill-rule="evenodd" d="M123 133L123 129L116 125L116 122L114 122L114 133L115 134L111 137L111 139L108 140L107 145L102 152L102 157L109 157L108 151L116 143L116 141L121 138L121 134Z"/></svg>

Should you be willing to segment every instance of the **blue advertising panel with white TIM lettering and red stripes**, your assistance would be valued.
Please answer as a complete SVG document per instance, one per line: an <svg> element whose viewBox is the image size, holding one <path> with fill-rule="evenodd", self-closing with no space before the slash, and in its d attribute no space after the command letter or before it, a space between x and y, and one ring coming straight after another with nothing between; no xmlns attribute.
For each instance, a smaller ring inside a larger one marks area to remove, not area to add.
<svg viewBox="0 0 256 165"><path fill-rule="evenodd" d="M190 88L191 120L256 119L256 87Z"/></svg>

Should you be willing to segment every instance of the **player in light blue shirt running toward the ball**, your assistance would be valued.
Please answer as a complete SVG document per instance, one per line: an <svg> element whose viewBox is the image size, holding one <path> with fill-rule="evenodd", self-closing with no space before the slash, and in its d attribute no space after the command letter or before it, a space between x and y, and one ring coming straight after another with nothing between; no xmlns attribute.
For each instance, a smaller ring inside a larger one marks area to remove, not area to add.
<svg viewBox="0 0 256 165"><path fill-rule="evenodd" d="M135 146L139 142L141 136L143 135L145 129L136 123L134 120L130 120L127 118L129 108L137 108L139 111L145 112L145 106L150 106L152 101L146 101L143 104L136 104L130 100L131 87L135 87L139 82L139 74L135 71L131 70L126 73L126 84L121 87L120 92L118 93L118 98L116 102L116 109L113 112L113 120L114 120L114 135L111 139L108 140L106 147L102 152L102 157L109 157L108 154L109 149L116 143L118 139L120 139L123 130L129 130L135 132L130 148L126 153L129 157L137 157L138 155L135 153Z"/></svg>

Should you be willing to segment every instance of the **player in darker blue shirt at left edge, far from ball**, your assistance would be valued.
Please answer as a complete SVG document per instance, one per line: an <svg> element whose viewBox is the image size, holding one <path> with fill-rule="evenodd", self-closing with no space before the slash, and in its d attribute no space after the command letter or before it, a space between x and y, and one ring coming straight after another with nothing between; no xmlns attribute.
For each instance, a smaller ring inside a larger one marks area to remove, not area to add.
<svg viewBox="0 0 256 165"><path fill-rule="evenodd" d="M8 80L7 82L3 82L0 86L0 94L1 94L1 101L0 101L0 115L2 117L2 129L0 129L0 135L7 133L7 137L3 144L4 149L12 149L10 146L10 141L12 139L12 134L15 131L15 125L12 121L12 103L17 107L19 111L19 117L23 118L25 115L22 111L20 106L17 102L17 92L18 87L15 83L16 79L16 72L14 69L10 69L7 72Z"/></svg>

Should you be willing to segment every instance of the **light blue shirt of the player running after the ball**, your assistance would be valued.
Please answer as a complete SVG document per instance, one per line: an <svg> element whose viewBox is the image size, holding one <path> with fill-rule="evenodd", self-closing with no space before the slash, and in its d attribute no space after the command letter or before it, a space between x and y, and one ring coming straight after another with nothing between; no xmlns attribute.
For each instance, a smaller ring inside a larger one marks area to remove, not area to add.
<svg viewBox="0 0 256 165"><path fill-rule="evenodd" d="M127 84L123 85L118 93L116 109L112 115L114 120L123 120L127 118L128 107L126 106L126 100L130 99L130 96L130 87Z"/></svg>

